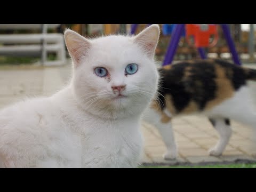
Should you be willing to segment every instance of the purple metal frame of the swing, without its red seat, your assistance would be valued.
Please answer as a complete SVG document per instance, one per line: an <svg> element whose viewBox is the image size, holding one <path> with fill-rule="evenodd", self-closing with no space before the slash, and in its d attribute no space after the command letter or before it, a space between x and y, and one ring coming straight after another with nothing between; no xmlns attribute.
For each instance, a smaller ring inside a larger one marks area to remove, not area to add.
<svg viewBox="0 0 256 192"><path fill-rule="evenodd" d="M148 26L150 26L150 25L151 24L149 24ZM242 65L241 61L239 60L238 53L236 51L234 41L233 41L233 39L230 35L230 30L229 30L228 25L227 24L220 24L220 26L222 28L223 34L226 37L226 41L228 43L229 50L232 54L234 62L237 65ZM137 27L138 27L138 24L132 24L131 34L135 34L135 31L136 31ZM169 65L169 64L172 63L175 52L177 51L177 48L178 48L178 44L179 44L179 41L180 41L180 37L181 37L181 34L182 34L183 27L185 27L185 24L177 24L177 26L173 30L172 38L171 38L171 41L169 43L167 52L165 54L163 66ZM206 59L206 54L205 54L205 51L202 47L198 48L198 52L199 52L199 55L202 59Z"/></svg>

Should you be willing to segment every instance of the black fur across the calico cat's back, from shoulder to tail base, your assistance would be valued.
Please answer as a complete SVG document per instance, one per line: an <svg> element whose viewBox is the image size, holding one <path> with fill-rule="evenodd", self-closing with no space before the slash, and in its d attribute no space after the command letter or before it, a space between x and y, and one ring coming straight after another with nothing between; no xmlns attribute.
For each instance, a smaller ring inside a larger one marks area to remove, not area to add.
<svg viewBox="0 0 256 192"><path fill-rule="evenodd" d="M158 69L162 76L158 91L162 95L171 95L177 113L185 109L190 101L195 102L199 110L204 110L206 103L218 96L216 65L224 71L234 90L246 84L249 72L246 74L243 68L225 60L206 59L195 60L193 63L181 61L170 68ZM161 105L161 109L164 109L166 103L162 95L159 95L159 99L162 101L160 103L164 103Z"/></svg>

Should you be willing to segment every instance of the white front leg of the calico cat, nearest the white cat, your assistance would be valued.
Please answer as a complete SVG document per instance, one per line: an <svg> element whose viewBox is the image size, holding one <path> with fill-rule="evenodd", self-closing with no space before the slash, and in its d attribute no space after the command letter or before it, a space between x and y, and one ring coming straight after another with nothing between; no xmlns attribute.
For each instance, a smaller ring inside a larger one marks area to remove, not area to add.
<svg viewBox="0 0 256 192"><path fill-rule="evenodd" d="M154 109L149 109L145 113L144 120L154 125L162 136L162 139L167 148L166 153L163 155L164 159L170 160L177 158L177 145L174 139L171 118L162 114Z"/></svg>

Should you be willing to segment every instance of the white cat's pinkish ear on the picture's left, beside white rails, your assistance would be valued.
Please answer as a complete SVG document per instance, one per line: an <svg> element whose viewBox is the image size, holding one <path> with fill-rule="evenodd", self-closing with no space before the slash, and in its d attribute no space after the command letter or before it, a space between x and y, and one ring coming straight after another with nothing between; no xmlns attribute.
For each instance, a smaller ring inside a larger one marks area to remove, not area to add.
<svg viewBox="0 0 256 192"><path fill-rule="evenodd" d="M87 51L90 49L91 42L70 29L65 30L64 36L68 52L73 59L75 67L77 67L81 64L81 58L86 56Z"/></svg>

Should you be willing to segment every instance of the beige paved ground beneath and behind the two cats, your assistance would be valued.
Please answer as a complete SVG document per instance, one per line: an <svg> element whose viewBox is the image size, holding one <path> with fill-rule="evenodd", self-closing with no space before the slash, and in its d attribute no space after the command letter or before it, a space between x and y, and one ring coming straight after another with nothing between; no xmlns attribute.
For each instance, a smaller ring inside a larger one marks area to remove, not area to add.
<svg viewBox="0 0 256 192"><path fill-rule="evenodd" d="M256 65L255 65L256 66ZM254 67L251 65L250 67ZM2 69L0 68L0 109L25 97L51 95L68 82L70 66L44 69ZM256 83L251 84L256 102ZM209 156L207 150L218 141L217 132L207 118L199 116L177 117L173 120L175 139L178 143L177 161L165 161L162 157L166 148L155 127L143 123L145 137L144 163L223 163L238 159L255 161L252 154L252 131L249 127L231 122L233 135L225 152L220 157Z"/></svg>

